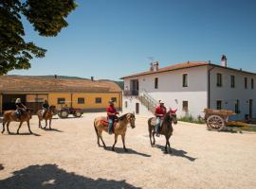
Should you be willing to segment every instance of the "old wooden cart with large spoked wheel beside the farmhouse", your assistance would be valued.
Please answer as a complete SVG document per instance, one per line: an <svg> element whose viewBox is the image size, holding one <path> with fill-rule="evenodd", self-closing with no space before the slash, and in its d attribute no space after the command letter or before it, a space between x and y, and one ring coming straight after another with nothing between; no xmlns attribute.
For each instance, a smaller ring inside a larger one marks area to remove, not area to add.
<svg viewBox="0 0 256 189"><path fill-rule="evenodd" d="M227 110L205 109L205 121L210 130L221 130L227 127L229 116L235 113Z"/></svg>

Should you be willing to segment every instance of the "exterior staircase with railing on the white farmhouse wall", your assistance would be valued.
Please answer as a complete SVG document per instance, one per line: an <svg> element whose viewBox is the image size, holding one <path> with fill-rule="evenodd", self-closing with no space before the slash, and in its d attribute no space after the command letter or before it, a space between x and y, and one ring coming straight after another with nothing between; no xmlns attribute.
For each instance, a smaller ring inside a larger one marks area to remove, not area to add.
<svg viewBox="0 0 256 189"><path fill-rule="evenodd" d="M155 107L158 105L158 102L154 99L154 97L144 90L138 95L137 99L148 109L149 112L152 112L153 114L155 113Z"/></svg>

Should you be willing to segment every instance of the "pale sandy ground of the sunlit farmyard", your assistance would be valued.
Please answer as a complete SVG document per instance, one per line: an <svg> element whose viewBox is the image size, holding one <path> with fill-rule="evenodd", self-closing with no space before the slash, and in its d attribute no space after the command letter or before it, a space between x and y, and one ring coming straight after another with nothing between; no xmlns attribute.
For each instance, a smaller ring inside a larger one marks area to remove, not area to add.
<svg viewBox="0 0 256 189"><path fill-rule="evenodd" d="M0 134L0 189L78 188L256 188L256 134L214 132L204 125L178 123L171 138L173 154L164 154L164 137L151 147L147 119L137 117L136 129L121 139L116 152L96 143L93 119L54 119L53 130L36 135ZM0 127L2 129L2 126ZM16 132L17 124L10 130ZM107 146L114 136L104 133Z"/></svg>

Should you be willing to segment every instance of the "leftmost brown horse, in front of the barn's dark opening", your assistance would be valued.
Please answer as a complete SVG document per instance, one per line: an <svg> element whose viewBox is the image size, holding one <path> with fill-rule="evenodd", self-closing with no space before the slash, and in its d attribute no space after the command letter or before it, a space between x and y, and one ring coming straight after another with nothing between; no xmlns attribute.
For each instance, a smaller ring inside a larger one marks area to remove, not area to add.
<svg viewBox="0 0 256 189"><path fill-rule="evenodd" d="M19 128L17 129L17 134L19 134L19 130L20 130L23 122L26 121L27 122L27 128L28 128L29 132L32 134L32 131L30 130L30 125L29 125L29 120L32 118L32 112L33 111L31 109L26 109L22 113L21 118L19 120L17 119L15 111L6 111L6 112L4 112L2 133L4 133L4 131L5 131L5 125L6 124L7 124L8 133L10 133L9 132L9 123L12 122L12 121L15 121L15 122L20 122Z"/></svg>

